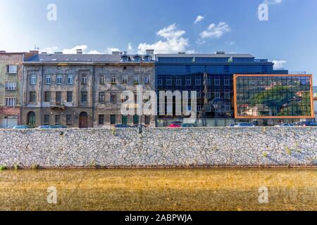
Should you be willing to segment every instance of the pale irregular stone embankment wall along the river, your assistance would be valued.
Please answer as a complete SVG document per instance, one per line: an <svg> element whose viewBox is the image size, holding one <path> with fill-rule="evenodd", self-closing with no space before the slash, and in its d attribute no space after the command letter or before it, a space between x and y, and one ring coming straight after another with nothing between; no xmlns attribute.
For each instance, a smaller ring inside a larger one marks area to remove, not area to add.
<svg viewBox="0 0 317 225"><path fill-rule="evenodd" d="M317 166L317 129L0 130L13 167Z"/></svg>

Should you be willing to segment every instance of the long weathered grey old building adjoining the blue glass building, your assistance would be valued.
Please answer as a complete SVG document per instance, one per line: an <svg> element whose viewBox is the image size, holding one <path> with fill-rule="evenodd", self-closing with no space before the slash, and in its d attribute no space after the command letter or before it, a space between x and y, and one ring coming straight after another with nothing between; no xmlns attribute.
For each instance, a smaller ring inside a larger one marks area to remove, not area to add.
<svg viewBox="0 0 317 225"><path fill-rule="evenodd" d="M120 113L121 93L136 84L154 90L154 53L62 54L41 53L25 60L23 124L62 124L68 127L104 127L135 124L137 117ZM154 117L143 122L155 126Z"/></svg>

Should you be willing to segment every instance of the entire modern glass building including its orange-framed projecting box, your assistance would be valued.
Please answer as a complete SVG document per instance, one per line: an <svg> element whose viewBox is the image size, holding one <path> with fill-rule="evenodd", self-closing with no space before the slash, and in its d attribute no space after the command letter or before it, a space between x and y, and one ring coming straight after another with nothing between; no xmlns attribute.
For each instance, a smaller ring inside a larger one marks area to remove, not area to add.
<svg viewBox="0 0 317 225"><path fill-rule="evenodd" d="M312 98L307 94L311 90L311 77L299 76L300 79L294 76L288 77L287 70L274 70L273 65L266 59L256 59L250 54L226 54L225 52L157 54L156 91L158 95L159 91L197 91L198 126L226 126L232 122L244 121L275 124L282 118L292 118L292 120L310 118ZM240 80L234 76L246 74L255 75L253 78L247 77L249 86L244 86L243 77ZM284 78L280 75L284 75ZM252 80L249 82L249 79ZM237 89L235 89L235 81ZM264 92L264 95L274 93L278 96L283 93L287 99L295 98L295 100L285 101L283 105L275 108L272 106L268 109L270 106L261 103L261 92L269 89L266 86L275 84L277 87L273 87L273 91L268 94ZM237 105L235 105L235 91L237 91ZM287 94L284 94L284 91ZM244 93L249 93L248 97L244 96ZM258 102L256 98L259 98ZM292 106L285 104L292 104ZM158 127L168 126L170 122L184 118L184 116L175 115L175 105L173 111L173 116L158 116ZM264 116L270 116L274 120L273 123L266 121L267 118Z"/></svg>

